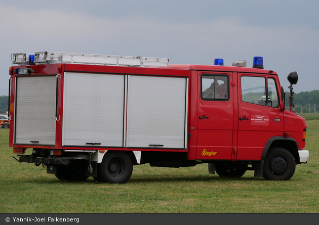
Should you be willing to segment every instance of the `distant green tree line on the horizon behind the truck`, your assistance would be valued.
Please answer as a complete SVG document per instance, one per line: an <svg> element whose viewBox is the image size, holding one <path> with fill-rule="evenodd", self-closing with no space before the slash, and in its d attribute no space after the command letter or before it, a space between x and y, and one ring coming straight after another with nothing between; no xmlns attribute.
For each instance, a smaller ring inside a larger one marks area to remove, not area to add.
<svg viewBox="0 0 319 225"><path fill-rule="evenodd" d="M285 93L285 104L286 108L290 109L289 97L290 92ZM319 113L319 90L311 92L300 92L293 94L293 104L295 105L295 111L300 113L301 110L304 113L314 112L314 105L316 105L316 113ZM8 96L0 96L0 113L6 114L8 111Z"/></svg>

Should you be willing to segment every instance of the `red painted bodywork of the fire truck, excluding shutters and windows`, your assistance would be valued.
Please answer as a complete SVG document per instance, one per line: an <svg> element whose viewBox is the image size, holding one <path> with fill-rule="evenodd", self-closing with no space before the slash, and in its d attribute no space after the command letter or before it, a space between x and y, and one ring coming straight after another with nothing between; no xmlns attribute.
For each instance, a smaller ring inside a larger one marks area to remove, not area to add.
<svg viewBox="0 0 319 225"><path fill-rule="evenodd" d="M61 64L60 64L61 65ZM13 66L26 68L28 66ZM170 65L168 67L141 68L118 67L80 64L62 64L62 73L58 73L58 64L43 64L33 66L36 72L23 76L58 75L57 76L57 121L55 149L68 150L130 150L130 151L178 151L187 152L187 158L194 160L260 160L264 147L271 137L284 136L284 132L290 132L299 146L299 150L305 147L302 142L302 132L306 128L305 120L291 112L282 112L281 107L254 105L243 102L241 98L240 78L242 75L271 77L276 81L280 90L280 82L275 72L268 70L205 65ZM153 76L183 76L189 77L188 94L188 124L186 124L189 138L185 150L175 149L127 149L127 148L99 148L99 147L63 147L63 72L109 73L130 75ZM217 74L229 78L229 99L225 101L204 101L201 99L201 75ZM20 148L46 148L48 146L19 146L14 145L14 118L15 118L15 93L16 77L13 74L10 91L10 147ZM279 91L279 99L281 99ZM282 102L283 103L283 102ZM254 119L264 116L266 123L258 124ZM200 119L200 116L208 117ZM240 120L239 118L248 118ZM277 121L277 119L280 119Z"/></svg>

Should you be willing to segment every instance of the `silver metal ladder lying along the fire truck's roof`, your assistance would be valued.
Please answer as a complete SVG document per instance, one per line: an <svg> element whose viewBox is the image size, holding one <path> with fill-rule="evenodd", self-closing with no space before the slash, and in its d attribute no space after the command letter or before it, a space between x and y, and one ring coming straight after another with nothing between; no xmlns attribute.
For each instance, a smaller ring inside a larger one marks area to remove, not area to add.
<svg viewBox="0 0 319 225"><path fill-rule="evenodd" d="M35 64L74 63L106 66L168 66L169 59L141 56L111 56L78 53L36 52L11 54L12 64L28 65L29 55L34 55Z"/></svg>

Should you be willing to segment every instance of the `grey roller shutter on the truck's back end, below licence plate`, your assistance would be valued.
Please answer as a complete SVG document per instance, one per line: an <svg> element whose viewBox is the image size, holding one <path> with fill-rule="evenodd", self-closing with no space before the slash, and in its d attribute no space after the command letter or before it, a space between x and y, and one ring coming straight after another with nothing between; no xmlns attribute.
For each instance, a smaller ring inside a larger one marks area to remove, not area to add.
<svg viewBox="0 0 319 225"><path fill-rule="evenodd" d="M15 144L55 145L56 77L18 77Z"/></svg>

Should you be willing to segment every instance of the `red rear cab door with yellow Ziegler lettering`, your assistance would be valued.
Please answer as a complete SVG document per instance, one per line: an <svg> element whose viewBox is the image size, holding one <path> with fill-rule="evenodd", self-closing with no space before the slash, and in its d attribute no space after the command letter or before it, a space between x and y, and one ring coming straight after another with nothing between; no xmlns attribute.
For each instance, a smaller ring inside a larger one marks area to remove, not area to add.
<svg viewBox="0 0 319 225"><path fill-rule="evenodd" d="M233 140L233 74L197 72L196 159L230 160Z"/></svg>

